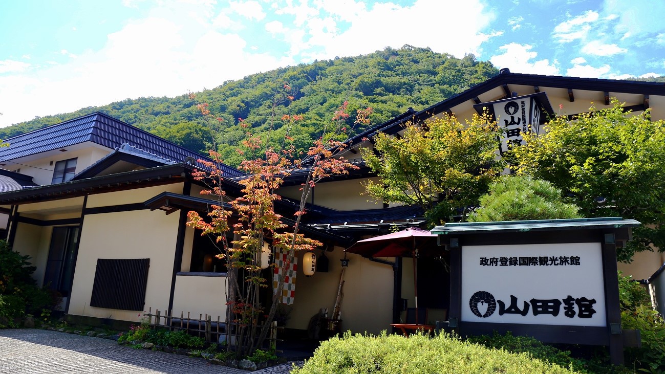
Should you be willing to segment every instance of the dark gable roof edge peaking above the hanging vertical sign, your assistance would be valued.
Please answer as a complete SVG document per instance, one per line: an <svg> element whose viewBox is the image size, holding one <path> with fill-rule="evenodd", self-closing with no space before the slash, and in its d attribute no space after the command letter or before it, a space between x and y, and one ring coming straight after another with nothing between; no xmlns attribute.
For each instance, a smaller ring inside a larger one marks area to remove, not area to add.
<svg viewBox="0 0 665 374"><path fill-rule="evenodd" d="M364 138L371 139L378 132L388 135L402 130L407 122L418 122L426 120L437 114L447 112L454 106L458 106L468 100L473 100L484 92L500 86L515 84L519 86L541 86L553 88L568 88L571 90L586 90L598 92L622 92L627 94L643 94L665 96L665 84L662 82L636 82L632 80L612 80L600 78L577 78L569 76L548 76L539 74L520 74L510 72L507 68L501 69L500 74L485 80L476 86L469 88L451 98L438 102L428 108L414 112L409 108L404 114L392 118L377 126L373 126L364 132L346 141L348 145L356 144ZM632 110L644 110L644 108L630 108Z"/></svg>

